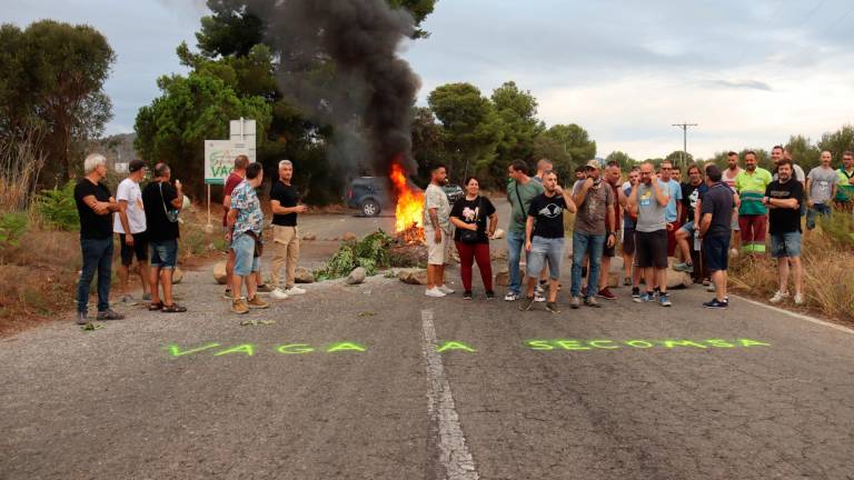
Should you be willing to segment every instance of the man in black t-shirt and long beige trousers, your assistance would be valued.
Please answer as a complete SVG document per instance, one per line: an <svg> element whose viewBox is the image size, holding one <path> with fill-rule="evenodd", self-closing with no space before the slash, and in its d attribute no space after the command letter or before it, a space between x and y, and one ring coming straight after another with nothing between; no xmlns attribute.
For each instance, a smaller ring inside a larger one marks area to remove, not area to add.
<svg viewBox="0 0 854 480"><path fill-rule="evenodd" d="M279 178L270 189L270 210L272 211L272 272L270 282L275 287L270 297L285 300L288 296L302 294L306 290L297 287L296 269L299 261L299 232L297 214L308 208L299 203L299 192L290 184L294 178L294 163L290 160L279 162ZM285 284L279 281L281 267L287 264Z"/></svg>

